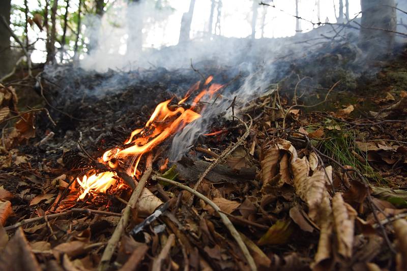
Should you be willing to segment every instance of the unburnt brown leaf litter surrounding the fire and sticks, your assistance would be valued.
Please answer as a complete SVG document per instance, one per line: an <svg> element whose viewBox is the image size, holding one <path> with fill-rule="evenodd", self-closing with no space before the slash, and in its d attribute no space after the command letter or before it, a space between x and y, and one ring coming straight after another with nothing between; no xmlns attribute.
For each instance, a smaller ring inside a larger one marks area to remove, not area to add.
<svg viewBox="0 0 407 271"><path fill-rule="evenodd" d="M13 90L2 91L17 103ZM402 270L407 264L405 93L376 97L380 108L373 112L375 117L366 118L357 117L363 108L356 103L338 105L335 112L308 111L296 108L297 98L294 104L293 97L279 95L251 101L255 107L247 111L254 119L249 137L221 159L213 168L217 175L203 178L197 191L230 219L257 269ZM125 94L120 98L128 100ZM0 109L0 118L8 118L10 110L14 108ZM143 123L149 114L138 115L135 118ZM96 270L121 225L131 190L124 185L78 201L77 169L86 169L92 161L76 140L69 143L73 136L63 144L57 136L48 139L49 146L40 146L46 154L38 157L24 147L49 134L36 126L37 117L33 112L22 115L4 138L0 266L8 268L13 261L17 270ZM108 114L106 118L98 121L110 121ZM116 124L98 141L88 139L92 131L86 124L78 124L91 157L124 142L120 136L132 126L124 118ZM186 154L191 159L186 164L199 168L199 161L213 163L243 136L244 126L239 125L236 120L215 121L211 128L222 132L200 139ZM391 137L384 130L392 131ZM168 162L167 147L166 143L155 150L154 175L194 187L181 167ZM254 177L242 181L251 168ZM188 192L151 178L144 189L108 263L111 269L249 268L244 252L210 205L196 197L189 205ZM162 202L168 202L168 209L131 235Z"/></svg>

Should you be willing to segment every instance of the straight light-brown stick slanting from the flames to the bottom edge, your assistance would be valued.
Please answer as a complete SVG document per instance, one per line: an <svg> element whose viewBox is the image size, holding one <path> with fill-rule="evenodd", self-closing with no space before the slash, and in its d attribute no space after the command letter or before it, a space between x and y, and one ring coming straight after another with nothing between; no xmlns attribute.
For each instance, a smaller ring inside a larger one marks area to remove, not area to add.
<svg viewBox="0 0 407 271"><path fill-rule="evenodd" d="M129 203L123 210L123 215L120 218L118 225L114 229L114 232L111 235L109 241L107 242L106 248L103 251L102 258L99 262L98 270L104 271L109 267L109 262L110 262L111 257L113 256L114 249L116 248L117 244L119 243L119 240L122 237L122 234L127 226L127 223L129 222L131 209L134 209L134 207L137 203L137 200L141 195L141 191L143 190L144 186L146 185L146 182L150 178L150 175L152 172L153 172L153 154L150 153L147 156L146 170L144 171L143 175L141 176L141 179L140 179L136 189L133 190L133 193L131 194L131 197L129 199Z"/></svg>

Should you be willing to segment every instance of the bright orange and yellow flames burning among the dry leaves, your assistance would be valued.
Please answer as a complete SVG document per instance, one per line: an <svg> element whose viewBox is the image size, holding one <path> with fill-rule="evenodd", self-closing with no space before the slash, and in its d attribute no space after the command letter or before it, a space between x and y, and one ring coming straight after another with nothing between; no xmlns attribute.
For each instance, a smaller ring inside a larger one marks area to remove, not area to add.
<svg viewBox="0 0 407 271"><path fill-rule="evenodd" d="M111 149L105 151L99 161L107 164L110 168L117 168L119 166L117 159L128 157L131 159L130 166L127 168L129 175L133 177L138 176L137 166L144 153L153 150L156 146L161 144L164 140L183 129L188 123L200 118L200 114L195 112L194 109L199 101L208 96L210 99L219 91L223 85L211 84L213 77L210 76L202 85L201 90L193 99L189 109L181 107L186 100L200 88L200 81L195 83L182 98L178 107L169 107L172 99L163 101L158 104L149 121L142 128L135 129L131 132L128 140L124 142L129 147L125 149ZM82 180L77 178L78 184L83 188L82 194L79 199L83 199L87 193L90 192L105 192L117 179L113 172L105 172L99 175L84 176Z"/></svg>

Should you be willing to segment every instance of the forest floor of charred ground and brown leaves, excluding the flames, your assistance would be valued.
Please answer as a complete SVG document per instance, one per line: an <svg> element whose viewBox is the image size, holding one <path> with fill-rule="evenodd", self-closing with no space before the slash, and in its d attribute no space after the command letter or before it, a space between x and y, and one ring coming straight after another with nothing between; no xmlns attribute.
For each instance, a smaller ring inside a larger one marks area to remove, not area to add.
<svg viewBox="0 0 407 271"><path fill-rule="evenodd" d="M228 111L240 119L217 116L181 161L168 162L171 138L143 153L134 191L132 161L101 157L123 150L135 128L146 139L176 122L145 126L162 101L180 108L172 90L196 72L124 73L139 80L99 96L74 86L117 73L84 74L64 95L63 81L37 82L42 95L24 92L35 79L10 82L0 89L0 269L403 270L406 59L404 48L372 65L374 76L313 70L312 84L309 66L338 54L294 65L244 106L237 97ZM200 73L231 80L219 67ZM77 178L103 172L113 184L84 193Z"/></svg>

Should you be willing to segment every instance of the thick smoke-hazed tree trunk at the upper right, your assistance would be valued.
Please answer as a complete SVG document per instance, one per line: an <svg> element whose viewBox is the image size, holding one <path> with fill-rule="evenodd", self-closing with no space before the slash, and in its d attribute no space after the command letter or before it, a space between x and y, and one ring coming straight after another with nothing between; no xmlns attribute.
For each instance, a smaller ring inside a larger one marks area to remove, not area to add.
<svg viewBox="0 0 407 271"><path fill-rule="evenodd" d="M396 30L395 6L395 0L361 0L359 46L369 59L383 59L392 53L395 33L385 30Z"/></svg>

